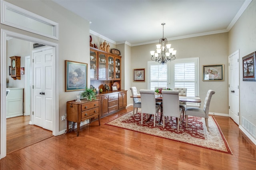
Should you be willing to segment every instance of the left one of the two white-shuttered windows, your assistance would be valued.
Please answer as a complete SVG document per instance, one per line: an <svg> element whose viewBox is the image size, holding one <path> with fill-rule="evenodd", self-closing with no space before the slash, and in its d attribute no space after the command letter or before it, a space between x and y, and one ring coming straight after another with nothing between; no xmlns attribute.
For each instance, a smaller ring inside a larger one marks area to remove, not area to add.
<svg viewBox="0 0 256 170"><path fill-rule="evenodd" d="M148 61L148 89L155 90L155 87L167 87L167 84L167 65Z"/></svg>

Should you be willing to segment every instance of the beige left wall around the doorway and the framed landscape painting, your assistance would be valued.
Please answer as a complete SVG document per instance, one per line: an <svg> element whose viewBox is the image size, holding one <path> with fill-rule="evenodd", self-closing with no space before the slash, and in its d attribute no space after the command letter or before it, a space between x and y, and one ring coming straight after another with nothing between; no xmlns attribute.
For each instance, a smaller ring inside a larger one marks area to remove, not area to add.
<svg viewBox="0 0 256 170"><path fill-rule="evenodd" d="M52 1L41 0L6 0L11 4L19 6L25 10L53 20L59 23L59 40L46 38L37 34L12 28L0 24L1 29L10 30L20 34L25 34L49 42L58 43L58 97L59 118L66 114L66 101L76 99L76 91L65 92L65 60L90 63L90 45L89 45L89 21L82 19L74 13L62 8ZM40 8L39 8L40 7ZM90 77L88 77L90 85ZM59 130L65 129L65 121L59 120Z"/></svg>

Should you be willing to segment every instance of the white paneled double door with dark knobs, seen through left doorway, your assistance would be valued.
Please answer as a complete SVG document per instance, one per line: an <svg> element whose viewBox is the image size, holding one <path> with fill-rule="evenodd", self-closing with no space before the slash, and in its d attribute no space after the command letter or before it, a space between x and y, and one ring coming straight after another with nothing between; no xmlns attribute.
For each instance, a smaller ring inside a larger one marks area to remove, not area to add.
<svg viewBox="0 0 256 170"><path fill-rule="evenodd" d="M48 130L53 125L52 49L33 53L33 124Z"/></svg>

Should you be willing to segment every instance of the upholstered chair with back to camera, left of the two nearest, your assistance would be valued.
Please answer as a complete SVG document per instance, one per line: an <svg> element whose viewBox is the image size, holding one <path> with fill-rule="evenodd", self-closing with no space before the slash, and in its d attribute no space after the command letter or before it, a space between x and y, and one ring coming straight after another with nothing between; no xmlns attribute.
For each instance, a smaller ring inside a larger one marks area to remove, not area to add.
<svg viewBox="0 0 256 170"><path fill-rule="evenodd" d="M156 114L160 106L156 105L154 90L140 90L141 99L141 125L143 124L143 113L154 115L154 127L156 125Z"/></svg>

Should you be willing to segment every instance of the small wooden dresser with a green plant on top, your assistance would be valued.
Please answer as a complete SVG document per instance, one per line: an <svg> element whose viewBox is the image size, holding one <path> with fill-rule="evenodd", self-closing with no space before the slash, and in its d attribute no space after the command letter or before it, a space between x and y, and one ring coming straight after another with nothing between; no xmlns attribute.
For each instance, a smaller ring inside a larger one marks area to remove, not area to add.
<svg viewBox="0 0 256 170"><path fill-rule="evenodd" d="M92 101L68 101L66 104L67 107L67 132L69 132L69 122L77 123L77 133L76 136L79 136L80 131L80 122L85 121L86 119L91 119L98 116L99 125L100 125L100 115L99 115L99 106L100 100Z"/></svg>

